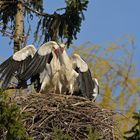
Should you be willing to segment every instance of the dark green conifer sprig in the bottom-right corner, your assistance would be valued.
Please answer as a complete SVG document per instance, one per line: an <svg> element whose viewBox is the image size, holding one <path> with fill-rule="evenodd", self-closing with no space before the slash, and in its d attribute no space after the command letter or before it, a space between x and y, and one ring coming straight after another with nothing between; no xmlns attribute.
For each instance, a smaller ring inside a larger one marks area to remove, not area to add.
<svg viewBox="0 0 140 140"><path fill-rule="evenodd" d="M136 124L125 132L126 136L124 138L126 140L140 140L140 111L139 113L135 112L132 118L136 121Z"/></svg>

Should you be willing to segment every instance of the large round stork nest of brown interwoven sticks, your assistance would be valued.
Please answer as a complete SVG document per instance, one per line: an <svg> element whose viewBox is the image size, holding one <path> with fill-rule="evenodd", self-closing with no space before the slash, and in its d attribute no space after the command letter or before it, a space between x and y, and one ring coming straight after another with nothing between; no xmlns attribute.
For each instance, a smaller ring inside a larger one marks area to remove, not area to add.
<svg viewBox="0 0 140 140"><path fill-rule="evenodd" d="M116 140L115 113L100 108L88 99L60 94L31 94L18 97L29 136L34 140L54 140L55 130L69 135L72 140L89 139L91 133L98 139Z"/></svg>

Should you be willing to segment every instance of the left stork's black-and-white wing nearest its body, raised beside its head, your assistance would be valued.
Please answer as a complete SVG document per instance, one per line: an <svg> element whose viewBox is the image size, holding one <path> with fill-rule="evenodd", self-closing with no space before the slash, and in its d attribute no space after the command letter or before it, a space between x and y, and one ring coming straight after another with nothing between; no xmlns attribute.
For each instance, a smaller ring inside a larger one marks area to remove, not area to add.
<svg viewBox="0 0 140 140"><path fill-rule="evenodd" d="M43 44L35 53L32 61L30 62L26 70L20 75L20 79L22 81L27 81L32 76L43 72L46 64L51 62L52 57L53 55L50 44Z"/></svg>

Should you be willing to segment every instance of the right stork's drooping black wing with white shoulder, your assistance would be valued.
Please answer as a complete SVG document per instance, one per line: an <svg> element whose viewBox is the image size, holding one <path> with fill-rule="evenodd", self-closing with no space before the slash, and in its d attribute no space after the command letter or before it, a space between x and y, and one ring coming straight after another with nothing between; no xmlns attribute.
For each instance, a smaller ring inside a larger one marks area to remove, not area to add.
<svg viewBox="0 0 140 140"><path fill-rule="evenodd" d="M73 63L73 68L77 73L79 73L77 83L81 96L92 99L95 83L92 80L91 72L87 63L78 54L74 54L71 61Z"/></svg>

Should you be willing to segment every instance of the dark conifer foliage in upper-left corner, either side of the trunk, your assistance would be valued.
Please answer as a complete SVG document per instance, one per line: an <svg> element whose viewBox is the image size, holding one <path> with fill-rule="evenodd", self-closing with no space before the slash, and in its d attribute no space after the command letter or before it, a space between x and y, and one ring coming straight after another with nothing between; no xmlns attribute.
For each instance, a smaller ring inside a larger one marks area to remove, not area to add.
<svg viewBox="0 0 140 140"><path fill-rule="evenodd" d="M3 29L6 30L9 28L10 23L10 28L14 30L15 26L15 15L17 13L17 4L19 0L3 0L0 1L0 21L3 23ZM25 4L31 6L35 10L42 11L43 8L43 1L42 0L25 0ZM27 10L25 11L29 15L31 15L31 11Z"/></svg>

